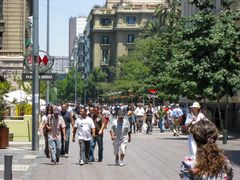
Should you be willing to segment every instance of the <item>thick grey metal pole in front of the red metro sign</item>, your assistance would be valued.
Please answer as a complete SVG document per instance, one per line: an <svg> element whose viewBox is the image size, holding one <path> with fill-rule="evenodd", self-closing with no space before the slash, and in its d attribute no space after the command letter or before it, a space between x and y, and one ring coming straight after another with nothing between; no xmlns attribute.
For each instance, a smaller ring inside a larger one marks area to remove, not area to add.
<svg viewBox="0 0 240 180"><path fill-rule="evenodd" d="M38 0L33 0L33 88L32 88L32 150L39 150L39 67L38 67L38 54L39 54L39 39L38 39Z"/></svg>

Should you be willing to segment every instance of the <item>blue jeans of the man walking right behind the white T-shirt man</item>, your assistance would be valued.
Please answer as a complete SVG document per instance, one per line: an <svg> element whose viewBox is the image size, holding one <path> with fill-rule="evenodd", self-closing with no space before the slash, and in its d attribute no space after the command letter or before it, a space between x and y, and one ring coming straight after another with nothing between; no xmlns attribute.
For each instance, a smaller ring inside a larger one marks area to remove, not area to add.
<svg viewBox="0 0 240 180"><path fill-rule="evenodd" d="M96 146L96 143L98 144L98 161L102 161L103 159L103 135L96 137L93 137L90 140L90 151L89 151L89 159L90 161L94 160L94 149Z"/></svg>

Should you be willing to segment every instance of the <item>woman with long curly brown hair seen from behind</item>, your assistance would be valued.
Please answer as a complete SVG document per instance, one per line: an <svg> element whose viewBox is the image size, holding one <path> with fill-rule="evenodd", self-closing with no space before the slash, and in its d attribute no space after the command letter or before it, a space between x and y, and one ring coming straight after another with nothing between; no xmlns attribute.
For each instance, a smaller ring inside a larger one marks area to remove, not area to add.
<svg viewBox="0 0 240 180"><path fill-rule="evenodd" d="M196 156L185 157L180 176L185 172L188 178L201 180L229 180L233 178L230 161L216 144L218 130L211 121L201 120L193 124L190 132L196 141ZM185 174L185 175L186 175ZM183 179L184 179L183 178Z"/></svg>

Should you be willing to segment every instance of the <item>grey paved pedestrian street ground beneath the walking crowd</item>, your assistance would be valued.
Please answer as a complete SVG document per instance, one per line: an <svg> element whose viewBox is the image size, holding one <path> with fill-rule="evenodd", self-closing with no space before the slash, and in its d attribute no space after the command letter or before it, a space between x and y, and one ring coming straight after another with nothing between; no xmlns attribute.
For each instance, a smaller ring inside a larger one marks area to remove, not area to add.
<svg viewBox="0 0 240 180"><path fill-rule="evenodd" d="M240 138L230 134L227 144L219 146L225 150L234 166L235 178L240 177ZM112 141L108 130L104 134L104 159L80 166L78 143L70 144L70 157L60 158L53 166L40 152L32 152L31 144L13 143L10 148L0 150L0 179L3 179L4 154L13 154L13 179L58 179L58 180L177 180L180 162L188 154L187 136L174 137L172 132L160 133L154 128L152 135L136 133L128 144L125 166L114 164ZM97 149L95 149L95 154Z"/></svg>

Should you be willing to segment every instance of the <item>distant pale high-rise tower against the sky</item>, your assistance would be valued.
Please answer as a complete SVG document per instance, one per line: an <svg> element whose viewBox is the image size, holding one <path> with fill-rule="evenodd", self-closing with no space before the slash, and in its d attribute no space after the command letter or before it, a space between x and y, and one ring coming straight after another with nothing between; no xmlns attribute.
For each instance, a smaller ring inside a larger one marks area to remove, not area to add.
<svg viewBox="0 0 240 180"><path fill-rule="evenodd" d="M86 24L87 17L71 17L69 19L69 57L72 56L77 38L83 34Z"/></svg>

